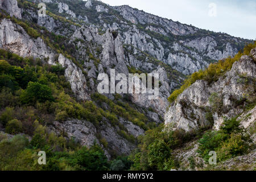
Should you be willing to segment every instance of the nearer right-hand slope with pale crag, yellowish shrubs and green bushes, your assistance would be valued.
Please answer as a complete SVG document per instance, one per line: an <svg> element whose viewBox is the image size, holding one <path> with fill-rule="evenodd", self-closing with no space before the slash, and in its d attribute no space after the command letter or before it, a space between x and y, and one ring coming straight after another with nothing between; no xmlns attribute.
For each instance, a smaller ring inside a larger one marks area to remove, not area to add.
<svg viewBox="0 0 256 182"><path fill-rule="evenodd" d="M254 170L255 52L256 42L187 78L164 125L139 139L131 169Z"/></svg>

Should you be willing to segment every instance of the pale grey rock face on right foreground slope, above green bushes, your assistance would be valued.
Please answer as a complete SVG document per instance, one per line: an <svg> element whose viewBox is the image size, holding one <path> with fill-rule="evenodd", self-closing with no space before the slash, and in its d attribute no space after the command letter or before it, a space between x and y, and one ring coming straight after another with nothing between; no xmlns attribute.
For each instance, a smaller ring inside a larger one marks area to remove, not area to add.
<svg viewBox="0 0 256 182"><path fill-rule="evenodd" d="M254 51L255 49L251 52ZM211 123L207 119L207 114L212 110L213 128L218 130L223 117L232 118L243 113L243 110L237 107L236 101L242 98L248 100L255 98L255 82L253 83L255 75L254 61L250 56L242 56L241 60L234 63L232 69L224 77L213 84L208 85L207 81L197 80L172 103L165 114L166 125L185 131L209 127ZM251 80L251 84L247 84L246 80L249 82ZM216 94L216 100L220 100L220 103L217 103L218 111L213 110L213 105L209 102L209 97L213 94ZM248 124L242 125L246 127Z"/></svg>

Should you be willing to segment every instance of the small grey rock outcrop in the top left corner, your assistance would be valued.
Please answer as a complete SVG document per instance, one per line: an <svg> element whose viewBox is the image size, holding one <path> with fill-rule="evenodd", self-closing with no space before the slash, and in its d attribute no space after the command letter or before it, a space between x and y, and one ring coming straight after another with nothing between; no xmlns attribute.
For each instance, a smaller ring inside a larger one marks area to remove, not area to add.
<svg viewBox="0 0 256 182"><path fill-rule="evenodd" d="M15 16L18 19L22 18L21 10L19 9L18 2L16 0L0 1L0 8L7 11L10 16Z"/></svg>

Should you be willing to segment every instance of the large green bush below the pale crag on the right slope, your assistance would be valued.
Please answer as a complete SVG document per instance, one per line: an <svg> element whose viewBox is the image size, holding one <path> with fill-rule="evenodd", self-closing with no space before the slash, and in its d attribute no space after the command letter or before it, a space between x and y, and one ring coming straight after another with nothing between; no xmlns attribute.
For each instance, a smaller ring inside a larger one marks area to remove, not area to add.
<svg viewBox="0 0 256 182"><path fill-rule="evenodd" d="M210 151L217 152L219 161L245 154L249 149L250 140L243 135L244 132L237 118L224 118L219 131L209 131L199 140L197 152L205 162L208 162Z"/></svg>

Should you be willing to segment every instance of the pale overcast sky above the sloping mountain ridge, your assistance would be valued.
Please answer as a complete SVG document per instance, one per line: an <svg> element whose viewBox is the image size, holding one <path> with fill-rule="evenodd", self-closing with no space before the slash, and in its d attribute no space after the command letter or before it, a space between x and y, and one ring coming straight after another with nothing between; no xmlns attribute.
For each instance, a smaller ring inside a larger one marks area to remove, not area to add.
<svg viewBox="0 0 256 182"><path fill-rule="evenodd" d="M181 23L256 39L256 0L102 0L129 5Z"/></svg>

